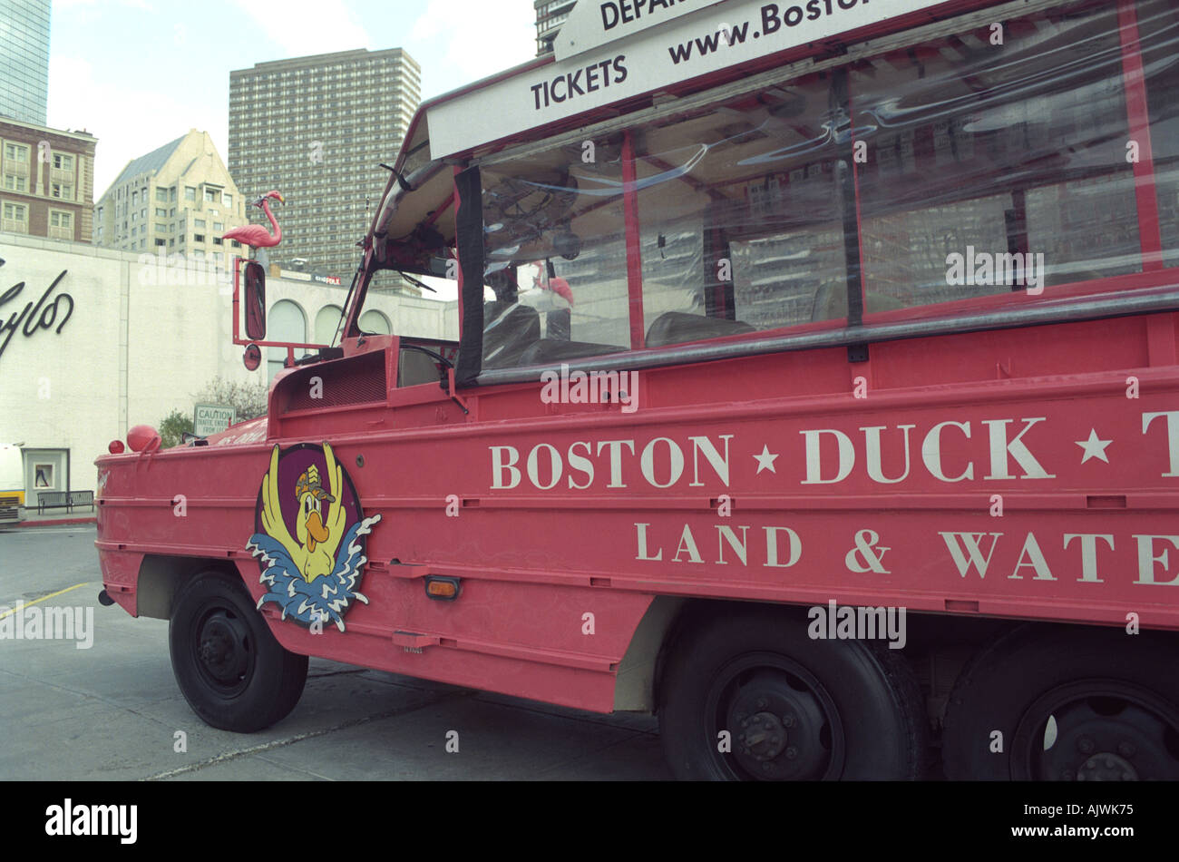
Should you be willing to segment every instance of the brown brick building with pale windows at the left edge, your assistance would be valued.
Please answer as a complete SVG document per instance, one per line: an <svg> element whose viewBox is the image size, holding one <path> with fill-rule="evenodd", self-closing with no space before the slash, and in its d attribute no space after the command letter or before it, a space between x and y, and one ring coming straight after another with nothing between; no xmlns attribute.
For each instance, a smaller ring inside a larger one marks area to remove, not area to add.
<svg viewBox="0 0 1179 862"><path fill-rule="evenodd" d="M0 118L0 230L88 243L97 144L87 132Z"/></svg>

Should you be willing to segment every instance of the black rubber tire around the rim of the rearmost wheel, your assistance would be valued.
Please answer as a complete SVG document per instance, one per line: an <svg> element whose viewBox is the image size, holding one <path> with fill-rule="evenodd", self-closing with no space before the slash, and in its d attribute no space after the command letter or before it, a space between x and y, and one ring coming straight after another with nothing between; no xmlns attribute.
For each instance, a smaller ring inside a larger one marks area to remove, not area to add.
<svg viewBox="0 0 1179 862"><path fill-rule="evenodd" d="M1019 626L976 653L954 684L942 735L946 775L954 781L1059 778L1036 775L1033 763L1035 746L1045 750L1030 712L1042 711L1043 702L1036 706L1040 698L1112 680L1144 690L1179 716L1177 665L1179 640L1159 632ZM1002 733L1001 752L990 750L996 730Z"/></svg>

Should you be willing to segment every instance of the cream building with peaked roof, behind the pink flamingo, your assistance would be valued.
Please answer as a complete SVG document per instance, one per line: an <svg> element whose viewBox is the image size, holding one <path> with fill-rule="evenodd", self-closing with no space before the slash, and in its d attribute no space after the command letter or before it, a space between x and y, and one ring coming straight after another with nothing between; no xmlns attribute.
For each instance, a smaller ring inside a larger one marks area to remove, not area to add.
<svg viewBox="0 0 1179 862"><path fill-rule="evenodd" d="M228 267L244 252L222 236L248 224L245 205L209 132L190 129L127 163L94 208L94 244Z"/></svg>

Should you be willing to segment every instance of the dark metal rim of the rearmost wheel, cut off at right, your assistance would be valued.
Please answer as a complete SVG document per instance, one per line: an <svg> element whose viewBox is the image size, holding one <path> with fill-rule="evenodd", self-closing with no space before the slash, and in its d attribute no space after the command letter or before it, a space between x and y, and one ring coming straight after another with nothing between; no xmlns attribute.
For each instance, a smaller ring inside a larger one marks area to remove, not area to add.
<svg viewBox="0 0 1179 862"><path fill-rule="evenodd" d="M1179 779L1179 712L1118 679L1058 686L1025 710L1012 742L1017 781Z"/></svg>

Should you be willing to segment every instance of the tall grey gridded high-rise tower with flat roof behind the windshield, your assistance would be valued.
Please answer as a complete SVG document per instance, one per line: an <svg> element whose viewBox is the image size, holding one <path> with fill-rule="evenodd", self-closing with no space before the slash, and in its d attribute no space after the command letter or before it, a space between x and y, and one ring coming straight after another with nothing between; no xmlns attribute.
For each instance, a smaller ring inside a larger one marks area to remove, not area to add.
<svg viewBox="0 0 1179 862"><path fill-rule="evenodd" d="M229 171L246 196L286 198L271 261L351 275L389 179L380 165L396 157L420 101L421 67L401 48L230 72Z"/></svg>

